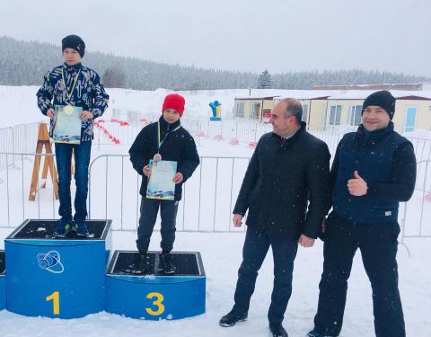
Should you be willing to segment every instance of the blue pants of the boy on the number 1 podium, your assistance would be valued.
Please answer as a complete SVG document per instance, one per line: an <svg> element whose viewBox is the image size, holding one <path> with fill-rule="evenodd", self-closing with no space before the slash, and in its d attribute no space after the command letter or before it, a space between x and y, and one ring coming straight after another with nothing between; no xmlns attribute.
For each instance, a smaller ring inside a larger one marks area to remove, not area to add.
<svg viewBox="0 0 431 337"><path fill-rule="evenodd" d="M75 221L87 217L88 165L92 152L92 142L81 144L56 143L56 161L58 171L58 194L60 198L60 217L72 219L72 203L70 196L72 150L75 153Z"/></svg>

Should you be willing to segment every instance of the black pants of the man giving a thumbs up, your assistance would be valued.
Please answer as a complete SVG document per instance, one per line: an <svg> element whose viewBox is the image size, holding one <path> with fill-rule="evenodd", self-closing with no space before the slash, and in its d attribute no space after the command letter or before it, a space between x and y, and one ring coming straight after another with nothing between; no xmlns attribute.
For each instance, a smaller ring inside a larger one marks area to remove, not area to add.
<svg viewBox="0 0 431 337"><path fill-rule="evenodd" d="M337 336L341 331L347 279L359 248L373 289L375 335L405 337L396 261L399 234L396 222L355 225L330 214L323 246L319 306L314 317L318 333Z"/></svg>

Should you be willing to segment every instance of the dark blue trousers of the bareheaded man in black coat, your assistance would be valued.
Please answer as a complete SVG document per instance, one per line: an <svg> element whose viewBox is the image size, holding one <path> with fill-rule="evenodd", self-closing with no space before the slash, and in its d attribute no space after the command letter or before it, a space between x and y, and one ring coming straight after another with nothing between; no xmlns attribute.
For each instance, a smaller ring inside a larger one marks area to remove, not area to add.
<svg viewBox="0 0 431 337"><path fill-rule="evenodd" d="M242 264L238 270L233 309L242 313L249 311L251 295L254 291L258 271L269 245L274 256L274 288L268 311L269 324L281 324L287 302L292 294L292 273L298 244L293 239L269 237L248 227L242 248Z"/></svg>

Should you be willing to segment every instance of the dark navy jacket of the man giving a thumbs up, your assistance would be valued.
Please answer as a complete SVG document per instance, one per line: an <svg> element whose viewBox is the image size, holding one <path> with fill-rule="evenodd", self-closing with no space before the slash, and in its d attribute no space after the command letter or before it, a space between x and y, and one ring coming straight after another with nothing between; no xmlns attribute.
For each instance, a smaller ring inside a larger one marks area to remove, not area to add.
<svg viewBox="0 0 431 337"><path fill-rule="evenodd" d="M355 171L368 186L361 197L347 190ZM361 124L339 142L330 175L333 208L339 217L356 224L397 221L399 202L409 200L415 189L415 152L392 122L368 135Z"/></svg>

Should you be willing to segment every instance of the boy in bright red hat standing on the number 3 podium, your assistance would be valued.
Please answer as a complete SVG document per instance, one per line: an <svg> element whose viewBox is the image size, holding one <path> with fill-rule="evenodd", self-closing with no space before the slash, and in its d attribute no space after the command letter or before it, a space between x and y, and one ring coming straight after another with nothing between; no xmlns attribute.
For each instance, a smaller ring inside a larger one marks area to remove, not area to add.
<svg viewBox="0 0 431 337"><path fill-rule="evenodd" d="M199 164L195 141L189 132L180 125L184 104L184 98L179 94L167 95L163 102L163 115L157 122L147 125L139 132L128 151L133 167L137 173L143 176L140 190L142 195L141 214L136 240L137 250L140 254L136 265L138 270L143 273L149 271L146 253L159 208L161 208L160 215L162 218L162 254L160 255L159 271L166 274L175 272L170 253L175 240L175 219L181 200L182 184L191 177ZM173 182L176 184L174 200L146 198L146 187L150 176L148 166L150 159L177 162L177 173L173 178Z"/></svg>

